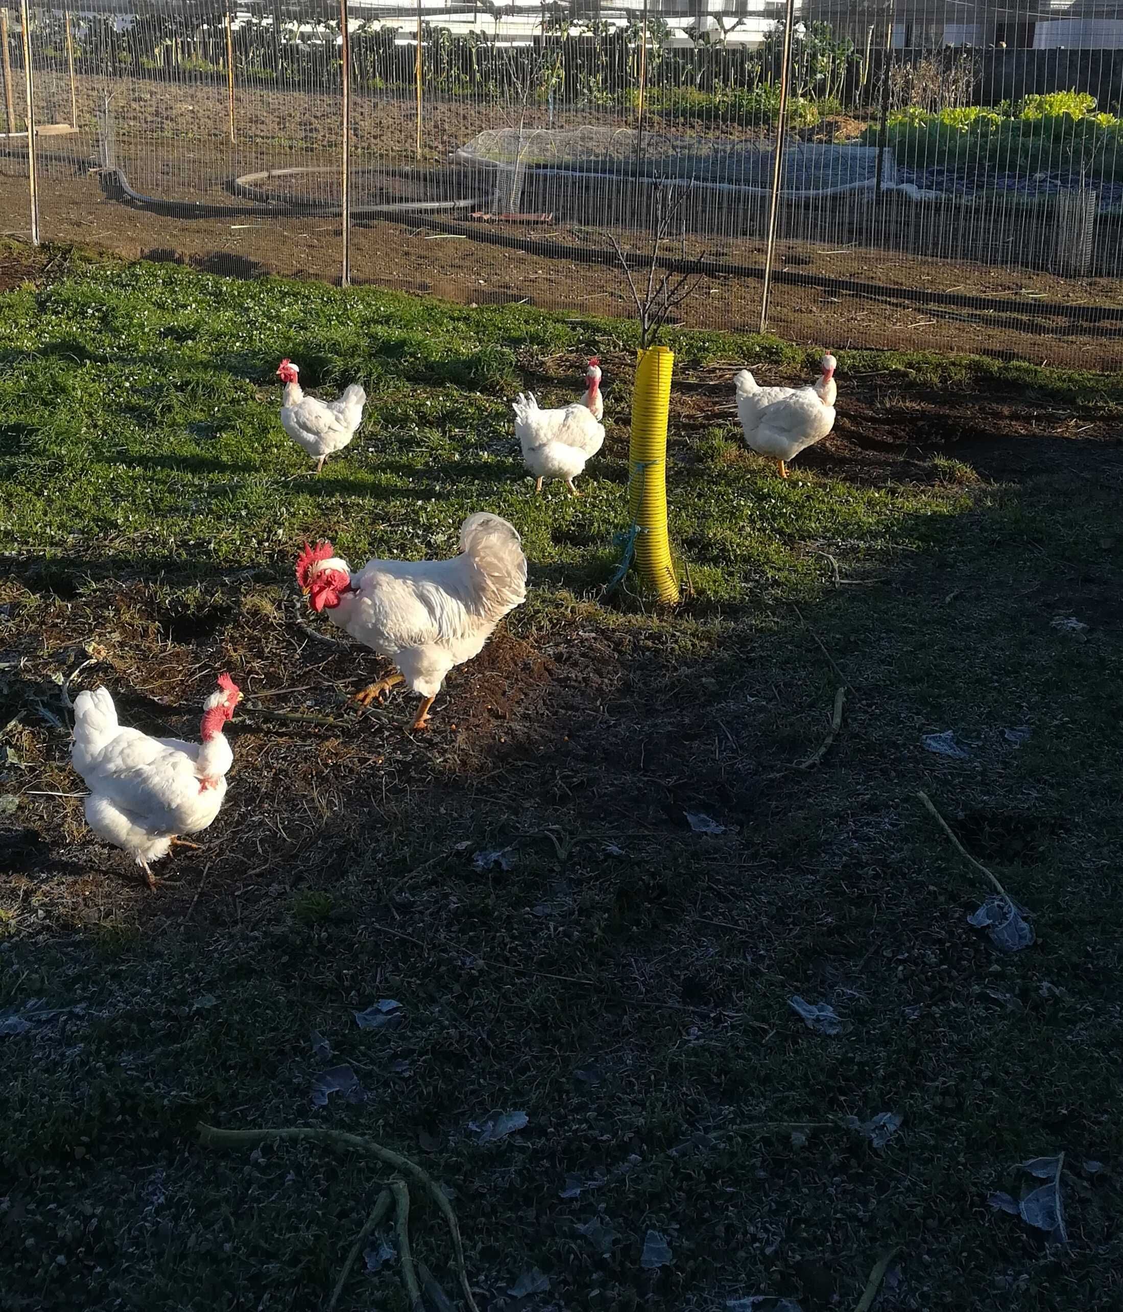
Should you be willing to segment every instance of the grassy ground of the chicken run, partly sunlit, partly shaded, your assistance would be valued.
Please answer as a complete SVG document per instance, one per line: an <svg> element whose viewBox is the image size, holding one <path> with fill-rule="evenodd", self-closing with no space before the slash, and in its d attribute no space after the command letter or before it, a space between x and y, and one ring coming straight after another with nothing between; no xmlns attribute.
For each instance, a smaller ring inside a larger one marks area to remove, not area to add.
<svg viewBox="0 0 1123 1312"><path fill-rule="evenodd" d="M54 269L0 297L0 1012L71 1010L0 1035L0 1305L323 1307L384 1176L310 1144L206 1151L199 1119L422 1161L481 1305L538 1266L527 1309L853 1308L895 1246L886 1309L1119 1305L1118 378L837 352L837 434L782 482L729 380L816 352L672 337L691 594L657 611L634 579L603 593L634 325ZM572 398L593 353L605 451L580 500L535 499L510 398ZM314 391L370 394L319 479L277 424L282 356ZM298 627L300 543L445 555L484 508L523 535L527 604L428 739L408 698L359 718L341 693L375 665ZM155 893L72 796L59 682L87 660L73 686L152 732L193 735L219 668L249 693L223 813ZM841 731L794 769L840 680ZM924 749L946 729L968 760ZM1032 913L1031 949L966 924L987 883L920 789ZM509 869L478 869L496 849ZM807 1030L794 993L845 1034ZM378 998L401 1022L359 1030ZM314 1107L336 1064L366 1099ZM512 1110L527 1127L480 1144L470 1124ZM888 1110L883 1151L745 1128ZM1067 1250L987 1206L1060 1151ZM598 1183L563 1199L572 1174ZM576 1229L597 1215L607 1256ZM649 1228L674 1253L657 1273ZM454 1292L420 1198L413 1239ZM396 1267L361 1267L341 1309L405 1307Z"/></svg>

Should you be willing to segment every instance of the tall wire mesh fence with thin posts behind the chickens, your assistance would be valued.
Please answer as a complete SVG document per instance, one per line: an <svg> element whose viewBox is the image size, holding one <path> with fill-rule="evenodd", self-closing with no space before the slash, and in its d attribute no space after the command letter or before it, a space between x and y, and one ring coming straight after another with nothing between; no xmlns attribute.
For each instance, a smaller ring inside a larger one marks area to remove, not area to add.
<svg viewBox="0 0 1123 1312"><path fill-rule="evenodd" d="M684 323L757 329L769 285L767 327L798 341L1116 367L1113 14L21 4L0 12L5 230L31 234L34 184L43 240L627 314L621 260L649 257L672 190L660 258L701 276Z"/></svg>

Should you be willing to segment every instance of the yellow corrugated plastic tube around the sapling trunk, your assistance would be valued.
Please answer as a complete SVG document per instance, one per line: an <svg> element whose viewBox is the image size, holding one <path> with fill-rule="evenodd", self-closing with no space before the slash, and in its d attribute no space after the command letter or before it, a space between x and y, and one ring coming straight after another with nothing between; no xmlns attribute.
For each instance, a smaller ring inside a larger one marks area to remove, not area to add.
<svg viewBox="0 0 1123 1312"><path fill-rule="evenodd" d="M635 525L640 577L660 601L678 601L678 580L666 534L666 417L674 353L666 346L638 352L632 394L628 509Z"/></svg>

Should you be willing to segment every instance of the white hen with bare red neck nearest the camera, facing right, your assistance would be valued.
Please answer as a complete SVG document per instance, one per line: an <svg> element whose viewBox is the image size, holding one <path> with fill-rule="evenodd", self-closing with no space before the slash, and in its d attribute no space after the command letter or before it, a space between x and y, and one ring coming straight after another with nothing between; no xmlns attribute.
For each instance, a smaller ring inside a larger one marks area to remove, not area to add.
<svg viewBox="0 0 1123 1312"><path fill-rule="evenodd" d="M206 829L226 798L234 753L223 728L241 701L230 674L203 702L202 743L153 739L118 723L108 689L79 693L71 762L85 781L85 820L105 842L133 857L155 888L150 862Z"/></svg>

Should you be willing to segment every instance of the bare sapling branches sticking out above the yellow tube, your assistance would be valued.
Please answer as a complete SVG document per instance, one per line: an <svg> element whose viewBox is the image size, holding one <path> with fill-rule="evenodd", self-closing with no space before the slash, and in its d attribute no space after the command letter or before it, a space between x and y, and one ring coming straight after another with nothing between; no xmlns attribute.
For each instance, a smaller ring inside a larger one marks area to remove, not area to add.
<svg viewBox="0 0 1123 1312"><path fill-rule="evenodd" d="M635 256L624 253L619 241L609 234L609 241L627 279L628 291L639 318L639 345L647 350L659 340L660 329L670 314L694 295L703 274L685 268L686 202L693 186L689 181L659 174L652 181L648 226L649 248ZM677 245L678 258L668 252ZM694 261L690 261L693 264Z"/></svg>

